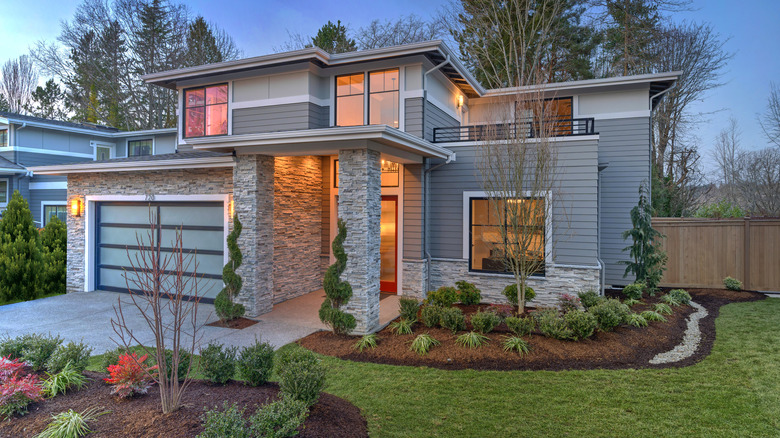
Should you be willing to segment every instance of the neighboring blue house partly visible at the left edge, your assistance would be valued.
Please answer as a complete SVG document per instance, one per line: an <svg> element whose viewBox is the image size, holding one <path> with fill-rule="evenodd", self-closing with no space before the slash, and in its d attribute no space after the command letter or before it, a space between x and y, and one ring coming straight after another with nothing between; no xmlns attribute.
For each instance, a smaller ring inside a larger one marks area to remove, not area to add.
<svg viewBox="0 0 780 438"><path fill-rule="evenodd" d="M44 227L51 216L66 218L67 178L35 175L31 166L101 161L171 153L176 129L120 131L88 123L61 122L0 111L0 212L14 190Z"/></svg>

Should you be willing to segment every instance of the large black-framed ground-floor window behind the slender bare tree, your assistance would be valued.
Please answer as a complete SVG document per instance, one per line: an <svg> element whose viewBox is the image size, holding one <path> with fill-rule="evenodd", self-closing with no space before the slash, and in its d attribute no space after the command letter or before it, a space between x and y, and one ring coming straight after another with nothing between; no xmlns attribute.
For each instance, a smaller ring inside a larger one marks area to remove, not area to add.
<svg viewBox="0 0 780 438"><path fill-rule="evenodd" d="M523 246L527 247L529 259L541 262L538 263L540 266L536 273L543 275L546 228L544 202L544 199L529 198L469 198L469 269L510 272L506 264L507 251L519 246L512 245L511 239L512 242L527 242ZM512 218L516 218L516 221ZM501 224L504 224L506 233L501 232Z"/></svg>

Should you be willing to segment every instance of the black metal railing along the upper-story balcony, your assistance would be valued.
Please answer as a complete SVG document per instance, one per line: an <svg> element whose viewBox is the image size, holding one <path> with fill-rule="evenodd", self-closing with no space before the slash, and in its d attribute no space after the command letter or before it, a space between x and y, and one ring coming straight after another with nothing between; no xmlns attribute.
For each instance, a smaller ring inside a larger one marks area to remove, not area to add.
<svg viewBox="0 0 780 438"><path fill-rule="evenodd" d="M549 126L549 136L570 137L576 135L591 135L594 132L593 118L556 119ZM458 141L484 141L488 139L512 139L521 136L526 138L539 137L538 125L532 121L520 123L500 123L494 125L467 125L433 128L434 143L449 143Z"/></svg>

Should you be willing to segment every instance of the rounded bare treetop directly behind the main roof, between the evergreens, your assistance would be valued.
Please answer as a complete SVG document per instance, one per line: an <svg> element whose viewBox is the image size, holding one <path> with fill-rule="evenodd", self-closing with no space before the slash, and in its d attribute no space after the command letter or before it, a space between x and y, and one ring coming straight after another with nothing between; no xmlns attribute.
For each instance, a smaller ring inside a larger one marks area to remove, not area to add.
<svg viewBox="0 0 780 438"><path fill-rule="evenodd" d="M361 50L368 50L435 40L446 34L447 28L441 21L426 21L410 14L394 21L374 20L357 30L355 40Z"/></svg>

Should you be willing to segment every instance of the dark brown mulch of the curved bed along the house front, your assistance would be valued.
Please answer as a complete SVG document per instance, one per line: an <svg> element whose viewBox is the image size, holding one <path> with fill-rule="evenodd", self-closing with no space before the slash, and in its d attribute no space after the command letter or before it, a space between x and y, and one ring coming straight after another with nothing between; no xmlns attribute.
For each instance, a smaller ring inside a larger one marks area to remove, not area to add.
<svg viewBox="0 0 780 438"><path fill-rule="evenodd" d="M526 338L531 351L525 356L503 351L503 337L510 334L503 324L488 334L490 342L487 345L477 349L458 345L456 336L449 330L427 328L421 323L415 324L413 335L398 336L385 328L378 333L377 348L362 353L353 349L356 337L336 336L331 332L317 332L298 343L317 353L342 359L441 369L557 371L680 367L699 362L710 353L715 340L715 318L722 305L764 299L764 295L755 292L720 289L689 289L688 292L709 312L700 322L703 341L692 357L671 364L650 365L649 361L682 341L687 318L694 311L690 306L674 308L674 313L666 316L665 323L653 322L646 328L621 326L613 332L597 332L592 338L580 342L559 341L536 333ZM632 310L648 310L659 301L659 297L646 297L644 301L646 304L634 306ZM476 310L476 306L464 309L469 313ZM420 333L429 333L441 345L433 347L425 356L417 355L409 350L409 343Z"/></svg>

